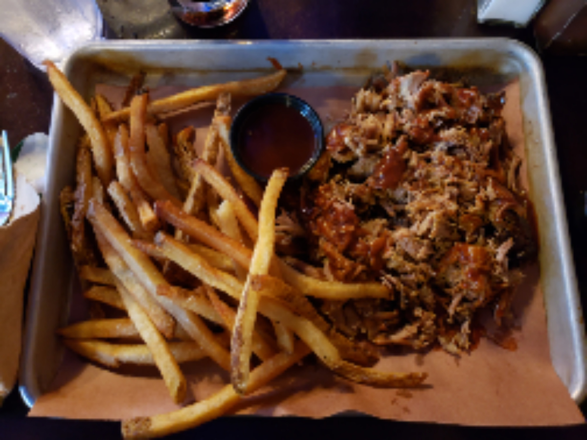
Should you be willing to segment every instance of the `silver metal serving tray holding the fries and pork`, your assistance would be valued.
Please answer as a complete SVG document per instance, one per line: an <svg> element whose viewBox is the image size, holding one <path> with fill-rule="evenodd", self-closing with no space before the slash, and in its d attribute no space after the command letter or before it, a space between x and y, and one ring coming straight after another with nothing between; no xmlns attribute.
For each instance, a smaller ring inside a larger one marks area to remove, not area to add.
<svg viewBox="0 0 587 440"><path fill-rule="evenodd" d="M508 39L360 41L119 41L77 50L65 74L86 98L98 83L124 85L143 70L161 84L200 85L272 70L268 57L299 69L289 81L361 86L389 60L409 66L466 69L480 85L518 78L528 160L530 196L539 219L541 282L548 316L552 363L572 398L587 394L586 348L581 304L571 257L544 75L537 56ZM59 192L75 180L75 144L82 128L55 100L50 128L48 189L26 314L20 390L32 406L58 370L63 346L55 330L68 318L75 285L72 259L59 214Z"/></svg>

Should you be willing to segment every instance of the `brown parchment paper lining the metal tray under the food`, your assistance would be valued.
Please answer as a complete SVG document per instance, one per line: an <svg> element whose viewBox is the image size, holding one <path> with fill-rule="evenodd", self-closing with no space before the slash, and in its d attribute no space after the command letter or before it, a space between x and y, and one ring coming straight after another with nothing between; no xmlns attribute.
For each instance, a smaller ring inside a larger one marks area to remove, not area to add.
<svg viewBox="0 0 587 440"><path fill-rule="evenodd" d="M504 116L510 142L523 153L524 135L517 83L504 86ZM163 87L157 97L173 92ZM285 90L307 100L328 129L350 108L350 87ZM120 90L102 87L116 100ZM234 103L238 108L239 103ZM205 138L212 108L170 120L173 131L188 123L197 127L198 144ZM524 173L525 170L522 170ZM539 269L528 268L513 304L517 350L509 351L481 340L473 353L454 357L441 350L424 354L386 354L376 368L385 371L427 371L427 387L383 390L336 377L314 360L306 360L274 383L246 398L239 414L326 417L355 410L404 421L433 421L469 425L562 425L583 422L575 402L552 367ZM227 383L228 374L209 360L184 365L195 400ZM136 373L136 371L134 372ZM173 411L163 381L154 370L107 371L68 353L50 390L36 402L33 416L122 419Z"/></svg>

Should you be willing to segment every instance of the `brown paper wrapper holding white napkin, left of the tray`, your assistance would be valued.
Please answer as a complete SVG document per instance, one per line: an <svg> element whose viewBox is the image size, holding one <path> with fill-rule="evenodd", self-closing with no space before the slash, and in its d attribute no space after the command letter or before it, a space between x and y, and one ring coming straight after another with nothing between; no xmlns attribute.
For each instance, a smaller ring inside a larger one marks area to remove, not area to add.
<svg viewBox="0 0 587 440"><path fill-rule="evenodd" d="M18 375L24 288L41 211L38 194L22 175L16 176L14 209L0 228L0 404Z"/></svg>

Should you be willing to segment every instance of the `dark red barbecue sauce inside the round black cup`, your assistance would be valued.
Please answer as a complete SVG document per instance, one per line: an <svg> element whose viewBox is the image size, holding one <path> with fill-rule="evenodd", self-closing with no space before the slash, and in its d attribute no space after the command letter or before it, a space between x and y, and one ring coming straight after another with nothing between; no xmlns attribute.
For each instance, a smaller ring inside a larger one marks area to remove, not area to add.
<svg viewBox="0 0 587 440"><path fill-rule="evenodd" d="M295 175L312 158L316 146L312 126L298 110L282 104L260 107L244 121L238 136L242 163L260 177L275 168Z"/></svg>

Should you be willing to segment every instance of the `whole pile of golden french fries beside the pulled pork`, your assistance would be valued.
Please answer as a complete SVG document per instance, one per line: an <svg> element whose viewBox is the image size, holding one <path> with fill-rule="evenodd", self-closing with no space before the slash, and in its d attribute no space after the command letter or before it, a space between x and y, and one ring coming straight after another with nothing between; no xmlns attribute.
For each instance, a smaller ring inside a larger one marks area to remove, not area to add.
<svg viewBox="0 0 587 440"><path fill-rule="evenodd" d="M219 417L309 353L356 383L416 387L425 380L425 373L371 368L369 350L333 329L308 299L386 298L387 287L315 279L275 253L275 213L288 170L275 170L262 189L232 157L228 131L231 96L273 90L285 70L156 101L134 80L130 106L114 111L102 96L86 103L45 64L85 129L76 186L63 189L61 208L93 316L60 329L64 343L110 368L156 365L181 405L188 385L179 364L209 357L230 372L231 383L203 401L123 421L125 438L163 436ZM157 124L166 113L210 100L217 108L200 155L193 128L172 142L166 124ZM220 148L238 186L217 171ZM112 309L122 312L105 317Z"/></svg>

